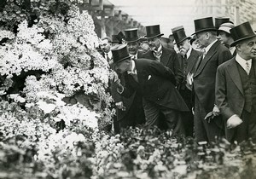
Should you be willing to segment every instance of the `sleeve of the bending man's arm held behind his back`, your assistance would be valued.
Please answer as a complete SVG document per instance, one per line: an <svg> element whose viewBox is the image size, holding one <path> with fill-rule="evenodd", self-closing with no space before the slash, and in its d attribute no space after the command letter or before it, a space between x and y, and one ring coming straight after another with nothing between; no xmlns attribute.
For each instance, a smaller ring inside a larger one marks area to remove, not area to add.
<svg viewBox="0 0 256 179"><path fill-rule="evenodd" d="M164 66L159 61L152 61L149 66L149 72L152 72L154 75L166 78L171 81L172 84L176 84L175 75L169 67Z"/></svg>

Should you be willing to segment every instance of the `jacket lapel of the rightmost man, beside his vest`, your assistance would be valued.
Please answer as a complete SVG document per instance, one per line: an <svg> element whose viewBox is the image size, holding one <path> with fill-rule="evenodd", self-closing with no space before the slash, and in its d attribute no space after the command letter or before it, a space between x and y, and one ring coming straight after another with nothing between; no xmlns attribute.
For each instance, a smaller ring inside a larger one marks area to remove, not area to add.
<svg viewBox="0 0 256 179"><path fill-rule="evenodd" d="M242 89L242 84L241 84L241 77L238 71L238 68L236 66L236 57L233 57L230 60L230 65L228 66L228 73L230 74L230 78L236 84L236 87L238 90L241 91L241 94L243 95L243 89Z"/></svg>

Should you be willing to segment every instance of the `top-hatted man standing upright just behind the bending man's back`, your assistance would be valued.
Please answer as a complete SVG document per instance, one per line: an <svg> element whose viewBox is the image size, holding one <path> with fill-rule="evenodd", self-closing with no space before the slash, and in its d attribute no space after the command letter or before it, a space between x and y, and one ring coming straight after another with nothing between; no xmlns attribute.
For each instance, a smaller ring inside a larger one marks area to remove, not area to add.
<svg viewBox="0 0 256 179"><path fill-rule="evenodd" d="M164 66L169 67L172 72L174 72L176 78L175 85L179 86L183 80L183 75L177 60L177 53L173 49L166 49L161 44L161 36L164 34L160 33L159 25L146 26L146 32L147 35L145 38L148 39L150 50L143 54L142 57L145 59L160 61Z"/></svg>

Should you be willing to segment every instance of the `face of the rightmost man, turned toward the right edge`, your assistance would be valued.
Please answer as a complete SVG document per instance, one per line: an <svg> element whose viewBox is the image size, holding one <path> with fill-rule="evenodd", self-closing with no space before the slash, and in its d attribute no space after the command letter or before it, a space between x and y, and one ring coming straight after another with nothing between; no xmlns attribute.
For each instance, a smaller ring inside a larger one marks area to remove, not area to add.
<svg viewBox="0 0 256 179"><path fill-rule="evenodd" d="M237 45L237 49L245 60L256 58L256 37L243 40Z"/></svg>

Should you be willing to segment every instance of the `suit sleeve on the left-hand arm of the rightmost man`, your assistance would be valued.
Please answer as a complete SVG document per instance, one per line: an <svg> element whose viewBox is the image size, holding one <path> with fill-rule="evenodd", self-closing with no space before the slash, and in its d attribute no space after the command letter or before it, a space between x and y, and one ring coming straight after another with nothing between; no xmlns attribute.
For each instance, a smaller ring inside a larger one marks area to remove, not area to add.
<svg viewBox="0 0 256 179"><path fill-rule="evenodd" d="M220 113L224 115L224 118L230 118L235 113L231 110L227 99L227 86L224 72L224 66L218 66L216 73L216 85L215 85L215 102L220 110Z"/></svg>

